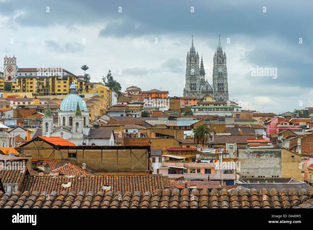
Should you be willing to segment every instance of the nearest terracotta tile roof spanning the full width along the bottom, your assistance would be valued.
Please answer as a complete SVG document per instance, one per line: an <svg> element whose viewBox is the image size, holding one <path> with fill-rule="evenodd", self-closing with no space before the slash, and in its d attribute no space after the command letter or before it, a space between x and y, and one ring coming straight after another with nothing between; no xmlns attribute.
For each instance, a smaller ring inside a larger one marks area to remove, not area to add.
<svg viewBox="0 0 313 230"><path fill-rule="evenodd" d="M46 176L47 177L47 176ZM312 208L313 189L0 192L0 208Z"/></svg>

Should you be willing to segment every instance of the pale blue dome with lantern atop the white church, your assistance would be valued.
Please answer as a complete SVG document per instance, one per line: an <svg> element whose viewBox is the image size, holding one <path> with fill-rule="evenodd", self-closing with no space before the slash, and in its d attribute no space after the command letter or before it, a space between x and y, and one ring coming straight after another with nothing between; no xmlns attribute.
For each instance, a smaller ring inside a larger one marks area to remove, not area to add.
<svg viewBox="0 0 313 230"><path fill-rule="evenodd" d="M77 102L80 107L80 110L87 111L87 105L85 101L76 94L76 87L72 83L69 87L69 95L67 95L61 102L60 110L61 111L76 111Z"/></svg>

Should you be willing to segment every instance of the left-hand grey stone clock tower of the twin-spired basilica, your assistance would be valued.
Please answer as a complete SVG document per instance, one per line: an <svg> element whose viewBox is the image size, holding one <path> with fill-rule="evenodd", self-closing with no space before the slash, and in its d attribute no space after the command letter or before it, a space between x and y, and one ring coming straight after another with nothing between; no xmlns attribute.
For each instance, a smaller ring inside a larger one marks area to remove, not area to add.
<svg viewBox="0 0 313 230"><path fill-rule="evenodd" d="M193 46L192 36L190 51L187 52L186 58L186 85L184 88L184 97L201 97L200 84L201 77L199 67L199 54L198 52L196 53L196 49Z"/></svg>

